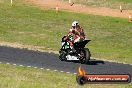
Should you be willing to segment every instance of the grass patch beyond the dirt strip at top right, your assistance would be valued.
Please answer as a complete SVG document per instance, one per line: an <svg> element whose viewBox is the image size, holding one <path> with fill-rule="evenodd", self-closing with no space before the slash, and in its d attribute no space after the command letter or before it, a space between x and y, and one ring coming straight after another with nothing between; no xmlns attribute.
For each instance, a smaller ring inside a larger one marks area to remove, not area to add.
<svg viewBox="0 0 132 88"><path fill-rule="evenodd" d="M114 9L119 9L119 6L122 5L123 9L132 10L132 0L72 0L72 1L86 6L107 7Z"/></svg>

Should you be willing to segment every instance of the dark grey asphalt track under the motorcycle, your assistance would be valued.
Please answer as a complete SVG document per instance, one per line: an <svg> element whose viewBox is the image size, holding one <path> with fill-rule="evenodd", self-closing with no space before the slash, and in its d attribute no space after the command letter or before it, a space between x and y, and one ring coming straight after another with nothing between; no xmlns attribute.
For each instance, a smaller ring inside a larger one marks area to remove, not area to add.
<svg viewBox="0 0 132 88"><path fill-rule="evenodd" d="M53 53L4 46L0 46L0 62L71 73L76 73L80 66L77 62L60 61L58 55ZM132 77L132 65L129 64L91 60L89 64L82 64L82 67L88 74L130 74Z"/></svg>

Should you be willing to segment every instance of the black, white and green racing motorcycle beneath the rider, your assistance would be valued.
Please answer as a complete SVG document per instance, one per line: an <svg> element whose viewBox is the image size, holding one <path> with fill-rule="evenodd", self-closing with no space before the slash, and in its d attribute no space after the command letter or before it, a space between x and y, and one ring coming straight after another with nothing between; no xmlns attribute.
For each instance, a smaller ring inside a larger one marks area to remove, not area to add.
<svg viewBox="0 0 132 88"><path fill-rule="evenodd" d="M73 44L74 49L71 49L70 44L68 43L69 39L64 41L64 36L62 38L62 47L59 51L59 59L61 61L79 61L82 64L87 64L90 60L91 54L88 48L85 48L85 45L91 40L83 40Z"/></svg>

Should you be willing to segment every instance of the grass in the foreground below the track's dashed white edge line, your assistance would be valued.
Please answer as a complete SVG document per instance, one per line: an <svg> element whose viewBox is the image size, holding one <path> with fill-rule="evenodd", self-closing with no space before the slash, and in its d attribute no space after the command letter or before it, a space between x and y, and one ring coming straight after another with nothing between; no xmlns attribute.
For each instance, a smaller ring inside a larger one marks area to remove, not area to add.
<svg viewBox="0 0 132 88"><path fill-rule="evenodd" d="M132 88L132 84L85 84L76 75L0 64L0 88Z"/></svg>

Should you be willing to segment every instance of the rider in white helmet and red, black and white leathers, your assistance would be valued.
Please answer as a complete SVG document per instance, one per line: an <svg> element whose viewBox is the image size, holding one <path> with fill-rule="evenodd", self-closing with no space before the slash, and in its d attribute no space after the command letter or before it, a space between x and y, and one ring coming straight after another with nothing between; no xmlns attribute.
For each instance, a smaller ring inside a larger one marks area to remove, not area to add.
<svg viewBox="0 0 132 88"><path fill-rule="evenodd" d="M82 27L80 27L78 21L74 21L72 23L72 27L70 29L70 32L68 33L68 35L64 38L64 40L66 40L67 38L69 38L69 36L71 37L75 37L72 41L68 41L70 43L71 49L73 49L73 43L75 42L79 42L79 41L83 41L85 39L85 34L84 31L82 29Z"/></svg>

